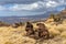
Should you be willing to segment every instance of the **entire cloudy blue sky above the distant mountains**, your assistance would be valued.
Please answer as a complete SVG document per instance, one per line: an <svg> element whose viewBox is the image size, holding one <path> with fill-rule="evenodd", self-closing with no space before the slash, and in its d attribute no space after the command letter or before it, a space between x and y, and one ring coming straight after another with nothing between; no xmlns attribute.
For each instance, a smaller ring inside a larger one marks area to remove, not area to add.
<svg viewBox="0 0 66 44"><path fill-rule="evenodd" d="M0 0L0 16L44 14L65 7L66 0Z"/></svg>

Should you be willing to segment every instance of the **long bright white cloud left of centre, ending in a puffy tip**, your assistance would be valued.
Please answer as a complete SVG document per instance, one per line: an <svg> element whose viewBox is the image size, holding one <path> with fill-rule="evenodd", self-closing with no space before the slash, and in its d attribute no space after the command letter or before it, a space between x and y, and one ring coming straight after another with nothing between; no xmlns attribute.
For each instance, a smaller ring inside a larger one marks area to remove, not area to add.
<svg viewBox="0 0 66 44"><path fill-rule="evenodd" d="M34 10L37 9L38 4L37 3L32 3L32 4L14 4L13 7L10 7L9 10Z"/></svg>

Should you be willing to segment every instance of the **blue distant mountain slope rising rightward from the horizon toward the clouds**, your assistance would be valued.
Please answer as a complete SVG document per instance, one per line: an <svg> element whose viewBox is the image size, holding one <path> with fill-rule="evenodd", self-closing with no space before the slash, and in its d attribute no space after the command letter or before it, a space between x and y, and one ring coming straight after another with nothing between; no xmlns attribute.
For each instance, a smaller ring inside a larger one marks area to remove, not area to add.
<svg viewBox="0 0 66 44"><path fill-rule="evenodd" d="M50 14L51 13L58 13L59 11L48 11L48 12L46 12L46 13L43 13L43 14L35 14L35 15L28 15L28 16L25 16L25 18L40 18L40 19L42 19L42 18L47 18L47 16L50 16Z"/></svg>

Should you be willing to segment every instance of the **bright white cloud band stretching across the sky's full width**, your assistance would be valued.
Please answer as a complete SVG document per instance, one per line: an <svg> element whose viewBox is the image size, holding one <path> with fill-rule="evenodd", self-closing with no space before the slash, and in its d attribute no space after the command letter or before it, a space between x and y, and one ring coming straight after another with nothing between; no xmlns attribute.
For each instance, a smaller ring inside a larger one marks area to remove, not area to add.
<svg viewBox="0 0 66 44"><path fill-rule="evenodd" d="M13 4L11 7L2 7L0 6L0 10L10 10L10 11L21 11L21 10L37 10L37 9L41 9L41 8L55 8L57 6L62 6L62 4L65 4L64 0L63 2L59 1L59 2L56 2L56 1L37 1L37 2L34 2L34 3L31 3L31 4Z"/></svg>

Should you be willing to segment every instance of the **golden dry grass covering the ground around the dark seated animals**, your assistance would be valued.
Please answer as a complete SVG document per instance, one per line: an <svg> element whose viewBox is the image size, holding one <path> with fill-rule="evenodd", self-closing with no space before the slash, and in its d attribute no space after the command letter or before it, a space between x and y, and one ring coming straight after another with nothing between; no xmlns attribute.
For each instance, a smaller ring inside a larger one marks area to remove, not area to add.
<svg viewBox="0 0 66 44"><path fill-rule="evenodd" d="M36 29L36 23L33 23L34 29ZM52 23L45 23L47 30L50 31L50 34L57 36L54 37L57 40L57 42L52 38L52 40L45 40L43 44L66 44L66 23L55 25ZM24 31L25 26L20 26L18 29L13 29L11 26L2 26L0 28L0 44L35 44L36 40L30 38L25 35ZM62 37L61 37L62 36ZM63 40L59 40L63 38Z"/></svg>

